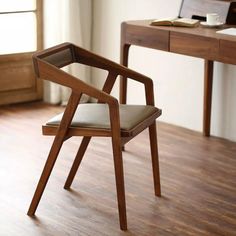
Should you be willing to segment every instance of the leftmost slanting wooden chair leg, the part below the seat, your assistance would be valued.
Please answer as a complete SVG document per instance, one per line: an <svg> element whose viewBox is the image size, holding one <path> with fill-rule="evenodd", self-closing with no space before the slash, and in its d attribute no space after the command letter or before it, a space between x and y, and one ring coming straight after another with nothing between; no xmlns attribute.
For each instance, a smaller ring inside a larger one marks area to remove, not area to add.
<svg viewBox="0 0 236 236"><path fill-rule="evenodd" d="M62 144L63 144L63 139L55 137L53 145L52 145L51 150L48 155L48 159L45 163L43 172L42 172L41 177L39 179L33 199L31 201L29 210L27 212L27 214L29 216L33 216L35 214L35 211L36 211L39 201L43 195L43 191L46 187L46 184L48 182L49 176L52 172L53 166L56 162L56 159L57 159L57 156L59 154Z"/></svg>

